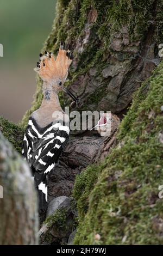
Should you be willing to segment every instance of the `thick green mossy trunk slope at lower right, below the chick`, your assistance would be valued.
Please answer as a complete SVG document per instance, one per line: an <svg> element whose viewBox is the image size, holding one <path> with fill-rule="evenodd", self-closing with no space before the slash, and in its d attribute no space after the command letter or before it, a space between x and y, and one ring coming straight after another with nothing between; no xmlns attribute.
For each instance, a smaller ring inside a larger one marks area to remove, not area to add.
<svg viewBox="0 0 163 256"><path fill-rule="evenodd" d="M135 94L117 148L77 176L76 245L163 244L162 95L163 62Z"/></svg>

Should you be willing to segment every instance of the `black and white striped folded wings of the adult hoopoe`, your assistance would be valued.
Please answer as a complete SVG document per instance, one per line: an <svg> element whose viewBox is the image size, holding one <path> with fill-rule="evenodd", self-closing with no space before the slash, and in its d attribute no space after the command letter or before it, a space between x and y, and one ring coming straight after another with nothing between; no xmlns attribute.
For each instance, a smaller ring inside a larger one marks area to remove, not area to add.
<svg viewBox="0 0 163 256"><path fill-rule="evenodd" d="M34 119L29 119L24 135L23 155L35 169L35 183L39 186L54 168L68 141L70 129L61 123L52 123L40 129Z"/></svg>

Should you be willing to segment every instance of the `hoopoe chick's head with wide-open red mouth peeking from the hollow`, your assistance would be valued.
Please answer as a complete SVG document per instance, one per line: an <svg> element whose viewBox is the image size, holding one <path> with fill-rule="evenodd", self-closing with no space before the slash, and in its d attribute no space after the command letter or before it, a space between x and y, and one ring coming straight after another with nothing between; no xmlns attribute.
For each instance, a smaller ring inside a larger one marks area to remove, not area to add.
<svg viewBox="0 0 163 256"><path fill-rule="evenodd" d="M104 113L98 121L97 127L98 133L102 137L108 137L115 129L120 125L120 119L117 115L112 113Z"/></svg>

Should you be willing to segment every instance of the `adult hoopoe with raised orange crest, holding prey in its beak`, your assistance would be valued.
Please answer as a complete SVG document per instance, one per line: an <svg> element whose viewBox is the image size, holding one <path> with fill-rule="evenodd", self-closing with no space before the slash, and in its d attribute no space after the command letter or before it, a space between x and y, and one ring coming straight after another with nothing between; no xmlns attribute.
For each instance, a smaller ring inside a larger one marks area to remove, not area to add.
<svg viewBox="0 0 163 256"><path fill-rule="evenodd" d="M35 68L43 80L44 96L40 108L30 115L22 153L33 171L40 209L47 207L48 173L55 167L70 133L69 117L61 109L58 92L64 90L78 102L76 96L63 87L71 63L72 54L61 42L57 59L47 51L40 53L40 62Z"/></svg>

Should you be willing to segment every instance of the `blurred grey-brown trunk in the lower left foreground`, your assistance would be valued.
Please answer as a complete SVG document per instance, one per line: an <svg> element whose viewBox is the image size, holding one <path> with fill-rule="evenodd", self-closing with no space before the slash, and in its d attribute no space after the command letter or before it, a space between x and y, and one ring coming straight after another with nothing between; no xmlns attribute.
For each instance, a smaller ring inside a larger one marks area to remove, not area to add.
<svg viewBox="0 0 163 256"><path fill-rule="evenodd" d="M2 133L0 185L0 245L36 245L37 199L30 170Z"/></svg>

